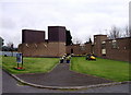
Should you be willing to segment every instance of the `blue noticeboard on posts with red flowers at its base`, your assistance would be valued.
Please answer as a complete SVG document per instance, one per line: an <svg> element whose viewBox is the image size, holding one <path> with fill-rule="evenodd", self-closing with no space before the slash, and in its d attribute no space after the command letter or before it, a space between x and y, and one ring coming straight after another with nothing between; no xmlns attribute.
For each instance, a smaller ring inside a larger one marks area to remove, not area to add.
<svg viewBox="0 0 131 95"><path fill-rule="evenodd" d="M17 63L17 67L15 69L23 70L23 55L22 54L16 54L16 63Z"/></svg>

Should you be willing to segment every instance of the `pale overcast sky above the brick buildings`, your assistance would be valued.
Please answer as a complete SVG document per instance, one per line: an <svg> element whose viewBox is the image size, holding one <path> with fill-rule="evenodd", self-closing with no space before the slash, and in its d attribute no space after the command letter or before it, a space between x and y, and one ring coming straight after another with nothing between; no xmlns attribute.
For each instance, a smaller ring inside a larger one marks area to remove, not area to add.
<svg viewBox="0 0 131 95"><path fill-rule="evenodd" d="M129 22L130 0L0 0L0 36L4 43L22 41L22 29L46 31L66 26L73 38L106 34ZM47 36L46 36L47 38Z"/></svg>

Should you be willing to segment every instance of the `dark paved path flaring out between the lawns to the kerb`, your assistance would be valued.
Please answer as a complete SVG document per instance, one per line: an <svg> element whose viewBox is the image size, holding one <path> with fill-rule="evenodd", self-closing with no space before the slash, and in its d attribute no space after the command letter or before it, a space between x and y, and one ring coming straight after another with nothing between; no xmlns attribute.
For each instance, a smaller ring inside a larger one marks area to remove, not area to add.
<svg viewBox="0 0 131 95"><path fill-rule="evenodd" d="M112 81L71 71L69 63L59 63L48 73L16 74L25 82L44 86L87 86Z"/></svg>

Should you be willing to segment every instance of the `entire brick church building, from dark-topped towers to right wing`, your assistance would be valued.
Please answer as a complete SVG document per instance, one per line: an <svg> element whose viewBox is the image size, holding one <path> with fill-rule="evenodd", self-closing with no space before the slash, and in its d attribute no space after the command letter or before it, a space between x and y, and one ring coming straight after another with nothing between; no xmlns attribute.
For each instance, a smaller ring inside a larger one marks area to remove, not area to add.
<svg viewBox="0 0 131 95"><path fill-rule="evenodd" d="M25 57L94 54L102 58L131 61L131 37L114 40L108 39L107 35L94 35L94 43L66 46L66 31L64 26L48 26L48 39L45 39L45 31L23 29L19 51Z"/></svg>

